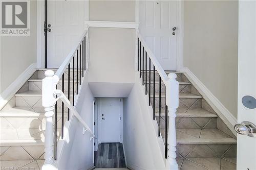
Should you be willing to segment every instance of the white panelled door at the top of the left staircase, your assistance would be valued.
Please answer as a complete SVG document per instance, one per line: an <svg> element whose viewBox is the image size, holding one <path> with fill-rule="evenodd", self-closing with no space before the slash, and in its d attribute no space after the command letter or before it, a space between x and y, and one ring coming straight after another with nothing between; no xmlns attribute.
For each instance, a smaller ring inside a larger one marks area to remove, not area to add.
<svg viewBox="0 0 256 170"><path fill-rule="evenodd" d="M83 33L84 1L47 1L47 61L58 68ZM51 25L49 27L49 25Z"/></svg>

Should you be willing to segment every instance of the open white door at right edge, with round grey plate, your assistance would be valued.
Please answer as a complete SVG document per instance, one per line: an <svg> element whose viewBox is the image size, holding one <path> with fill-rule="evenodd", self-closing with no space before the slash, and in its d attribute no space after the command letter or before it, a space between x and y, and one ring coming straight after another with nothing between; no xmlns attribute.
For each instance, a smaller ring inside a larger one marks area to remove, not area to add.
<svg viewBox="0 0 256 170"><path fill-rule="evenodd" d="M239 1L238 46L238 123L256 125L256 108L242 104L246 95L256 98L256 1ZM237 147L237 169L256 169L256 137L238 134Z"/></svg>

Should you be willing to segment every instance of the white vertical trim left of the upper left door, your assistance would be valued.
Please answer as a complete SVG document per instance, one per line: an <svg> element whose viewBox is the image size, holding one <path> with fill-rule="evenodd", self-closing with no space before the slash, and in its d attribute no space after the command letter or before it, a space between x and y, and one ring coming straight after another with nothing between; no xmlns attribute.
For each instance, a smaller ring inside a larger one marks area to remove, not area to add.
<svg viewBox="0 0 256 170"><path fill-rule="evenodd" d="M45 68L45 1L37 1L37 68Z"/></svg>

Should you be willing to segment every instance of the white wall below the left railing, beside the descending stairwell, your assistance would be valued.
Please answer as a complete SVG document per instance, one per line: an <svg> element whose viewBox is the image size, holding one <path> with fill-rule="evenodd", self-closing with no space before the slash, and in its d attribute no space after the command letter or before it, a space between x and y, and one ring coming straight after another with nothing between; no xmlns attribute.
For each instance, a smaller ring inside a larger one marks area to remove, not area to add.
<svg viewBox="0 0 256 170"><path fill-rule="evenodd" d="M93 129L93 103L94 96L88 82L84 82L76 109L91 129ZM69 130L70 141L63 148L58 169L89 169L94 166L93 140L90 141L89 132L83 135L82 129L82 124L74 117Z"/></svg>

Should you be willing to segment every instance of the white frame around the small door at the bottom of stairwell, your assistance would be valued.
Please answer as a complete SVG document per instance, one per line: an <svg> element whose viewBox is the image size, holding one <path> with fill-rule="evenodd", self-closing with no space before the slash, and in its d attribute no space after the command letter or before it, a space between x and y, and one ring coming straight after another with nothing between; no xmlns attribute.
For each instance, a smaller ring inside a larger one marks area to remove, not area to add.
<svg viewBox="0 0 256 170"><path fill-rule="evenodd" d="M102 143L101 141L101 98L98 98L98 144ZM121 102L121 109L120 109L120 143L123 143L123 99L117 98Z"/></svg>

